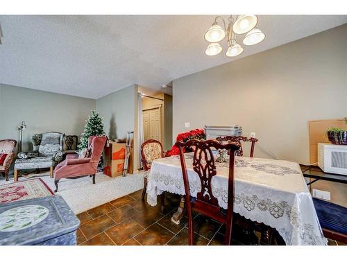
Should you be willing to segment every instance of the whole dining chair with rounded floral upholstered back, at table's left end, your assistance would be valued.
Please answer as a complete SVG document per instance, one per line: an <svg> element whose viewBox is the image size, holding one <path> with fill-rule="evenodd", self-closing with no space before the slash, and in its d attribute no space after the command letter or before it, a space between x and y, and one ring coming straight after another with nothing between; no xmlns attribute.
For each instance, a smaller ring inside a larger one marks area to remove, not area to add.
<svg viewBox="0 0 347 260"><path fill-rule="evenodd" d="M146 195L147 177L149 175L149 171L151 170L151 164L154 159L159 159L164 156L164 150L162 149L162 143L160 143L160 141L149 139L144 141L144 143L141 145L141 160L144 166L144 189L142 191L142 200L144 200L144 196ZM162 211L164 211L164 192L160 198L162 200Z"/></svg>

